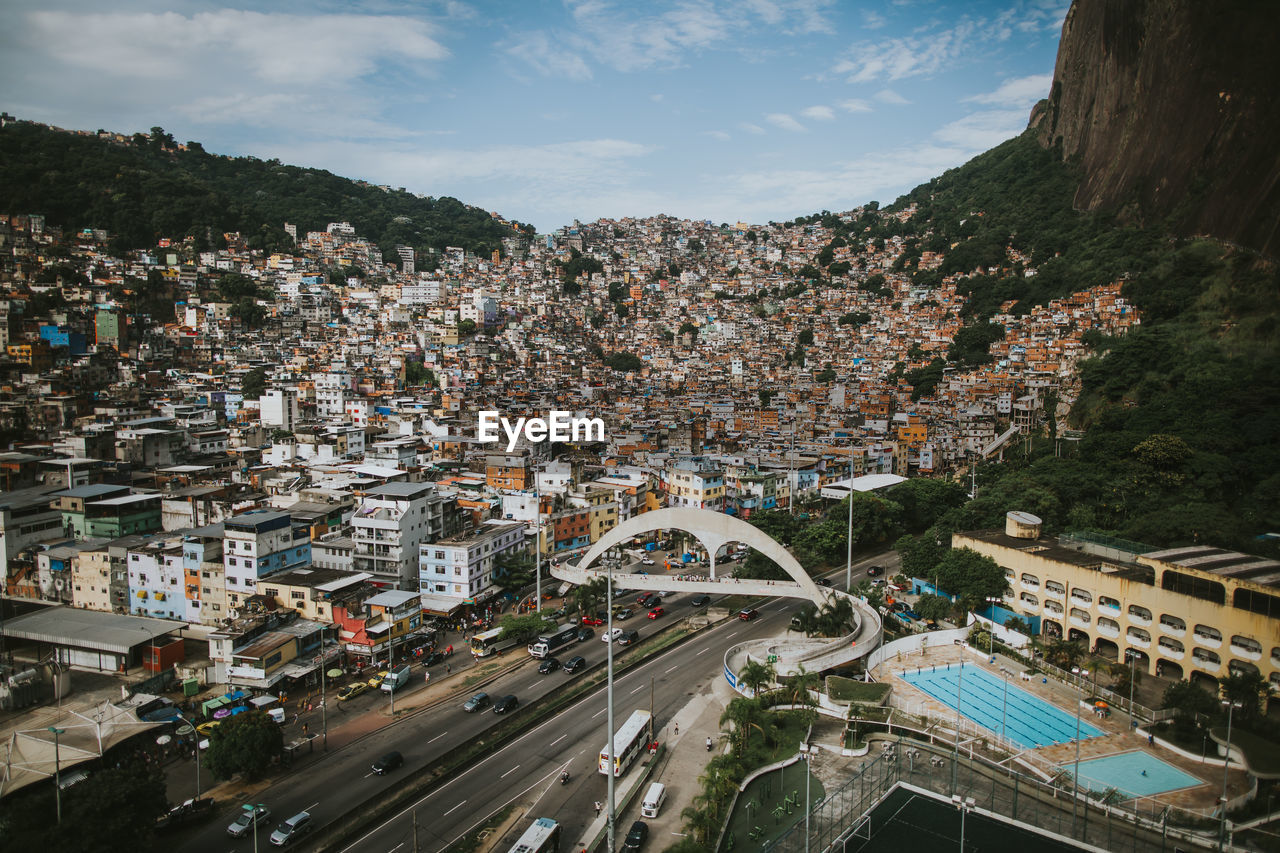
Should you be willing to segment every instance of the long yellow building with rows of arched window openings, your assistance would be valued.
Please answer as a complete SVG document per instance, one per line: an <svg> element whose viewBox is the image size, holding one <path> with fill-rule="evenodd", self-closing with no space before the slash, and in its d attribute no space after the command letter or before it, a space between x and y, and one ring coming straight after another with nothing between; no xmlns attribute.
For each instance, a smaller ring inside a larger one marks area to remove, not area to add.
<svg viewBox="0 0 1280 853"><path fill-rule="evenodd" d="M1088 642L1149 674L1219 679L1258 672L1280 689L1280 562L1210 546L1129 555L1041 535L1010 512L1004 532L951 537L1005 570L1005 607L1041 633ZM1080 548L1089 547L1089 551Z"/></svg>

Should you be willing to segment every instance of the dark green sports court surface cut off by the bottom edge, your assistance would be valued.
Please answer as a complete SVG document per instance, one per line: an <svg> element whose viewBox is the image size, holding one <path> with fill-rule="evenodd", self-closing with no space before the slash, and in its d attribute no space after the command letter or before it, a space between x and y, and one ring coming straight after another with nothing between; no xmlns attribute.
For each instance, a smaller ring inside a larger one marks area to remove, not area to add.
<svg viewBox="0 0 1280 853"><path fill-rule="evenodd" d="M882 799L869 817L867 825L849 839L846 853L961 849L960 811L950 802L899 788ZM964 818L963 849L982 853L1068 853L1085 848L969 812Z"/></svg>

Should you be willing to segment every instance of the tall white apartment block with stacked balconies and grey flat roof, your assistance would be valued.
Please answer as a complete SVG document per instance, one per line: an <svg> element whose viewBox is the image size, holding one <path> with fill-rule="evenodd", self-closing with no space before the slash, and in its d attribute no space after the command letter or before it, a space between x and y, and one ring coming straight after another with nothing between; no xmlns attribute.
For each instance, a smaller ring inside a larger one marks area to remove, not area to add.
<svg viewBox="0 0 1280 853"><path fill-rule="evenodd" d="M430 483L387 483L365 492L351 528L352 569L413 589L419 546L444 535L444 498Z"/></svg>

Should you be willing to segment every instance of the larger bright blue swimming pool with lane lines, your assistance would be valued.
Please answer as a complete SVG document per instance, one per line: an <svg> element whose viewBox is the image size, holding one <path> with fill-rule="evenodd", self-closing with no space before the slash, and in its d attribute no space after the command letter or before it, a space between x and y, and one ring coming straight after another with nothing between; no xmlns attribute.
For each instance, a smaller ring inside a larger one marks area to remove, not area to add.
<svg viewBox="0 0 1280 853"><path fill-rule="evenodd" d="M979 726L1002 734L1024 749L1068 743L1075 739L1075 715L1039 699L1027 690L1009 684L1005 699L1005 679L982 667L948 665L915 672L904 672L902 680L928 693L952 711L956 708L957 688L960 713ZM1080 720L1080 739L1096 738L1102 731Z"/></svg>

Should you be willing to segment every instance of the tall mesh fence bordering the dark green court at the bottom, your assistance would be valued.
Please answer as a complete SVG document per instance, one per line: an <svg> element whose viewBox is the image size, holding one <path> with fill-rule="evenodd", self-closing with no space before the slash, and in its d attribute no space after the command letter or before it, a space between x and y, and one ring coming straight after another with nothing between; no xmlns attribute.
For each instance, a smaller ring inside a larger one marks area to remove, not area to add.
<svg viewBox="0 0 1280 853"><path fill-rule="evenodd" d="M879 739L879 754L874 754L873 749L873 757L847 783L812 806L808 836L801 813L796 824L765 850L803 853L844 849L859 818L899 784L942 797L960 794L973 798L979 811L1108 850L1153 853L1174 849L1175 841L1183 847L1210 847L1215 840L1170 825L1176 815L1169 808L1147 817L1114 806L1089 803L1083 795L1073 795L1002 765L964 756L956 760L954 747L929 743L931 735L920 734L923 739Z"/></svg>

